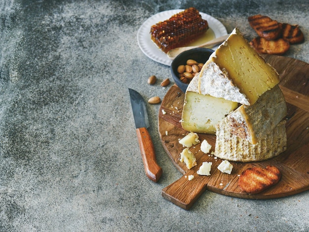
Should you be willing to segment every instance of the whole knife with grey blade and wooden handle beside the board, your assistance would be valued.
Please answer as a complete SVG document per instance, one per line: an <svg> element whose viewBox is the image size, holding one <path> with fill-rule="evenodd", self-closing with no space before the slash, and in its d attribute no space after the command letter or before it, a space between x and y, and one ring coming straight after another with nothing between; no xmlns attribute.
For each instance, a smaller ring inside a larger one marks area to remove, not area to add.
<svg viewBox="0 0 309 232"><path fill-rule="evenodd" d="M156 162L154 144L147 130L150 124L146 104L137 91L129 88L129 94L146 176L157 182L162 175L162 168Z"/></svg>

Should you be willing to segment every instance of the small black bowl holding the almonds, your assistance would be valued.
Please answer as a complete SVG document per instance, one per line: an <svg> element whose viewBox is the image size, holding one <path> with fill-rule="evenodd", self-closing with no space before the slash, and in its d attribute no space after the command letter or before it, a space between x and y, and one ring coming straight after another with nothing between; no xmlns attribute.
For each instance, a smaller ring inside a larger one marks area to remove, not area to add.
<svg viewBox="0 0 309 232"><path fill-rule="evenodd" d="M214 52L214 50L209 49L209 48L203 48L203 47L198 47L198 48L193 48L187 51L184 51L180 53L178 56L175 57L175 59L172 61L171 64L171 73L172 77L177 84L177 86L185 93L186 89L188 87L188 84L182 82L179 79L179 75L177 72L177 68L180 65L186 65L187 60L192 59L197 61L198 63L205 63L209 56Z"/></svg>

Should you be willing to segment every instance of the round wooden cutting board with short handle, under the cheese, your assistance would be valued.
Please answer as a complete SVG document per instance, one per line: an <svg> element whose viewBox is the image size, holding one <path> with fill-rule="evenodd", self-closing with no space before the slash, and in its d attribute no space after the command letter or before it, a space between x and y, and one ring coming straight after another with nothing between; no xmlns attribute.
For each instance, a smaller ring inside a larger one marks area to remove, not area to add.
<svg viewBox="0 0 309 232"><path fill-rule="evenodd" d="M161 103L158 131L165 151L178 170L183 173L183 177L162 190L164 198L184 209L189 209L205 190L254 199L283 197L309 190L309 64L282 56L264 55L264 57L279 73L279 86L287 102L287 150L266 161L231 162L233 169L229 175L217 169L222 160L203 154L198 144L190 148L196 157L197 165L188 170L186 165L179 161L184 148L178 142L188 134L180 123L185 94L178 86L173 85ZM166 114L163 114L162 110ZM198 135L200 141L206 139L214 151L216 136ZM210 176L196 174L204 161L212 162ZM267 165L274 165L281 171L280 182L262 193L242 192L237 184L241 172L249 167L264 168ZM189 181L189 175L194 175L194 179Z"/></svg>

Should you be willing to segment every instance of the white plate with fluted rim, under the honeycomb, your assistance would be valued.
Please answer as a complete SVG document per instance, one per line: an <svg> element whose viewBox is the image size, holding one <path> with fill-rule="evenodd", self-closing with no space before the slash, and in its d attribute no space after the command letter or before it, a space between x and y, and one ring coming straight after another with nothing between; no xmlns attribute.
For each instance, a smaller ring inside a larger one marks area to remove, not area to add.
<svg viewBox="0 0 309 232"><path fill-rule="evenodd" d="M137 32L137 42L139 47L146 56L161 64L168 66L171 65L172 60L169 59L167 55L163 51L161 51L151 40L150 28L154 24L169 19L171 16L181 11L183 11L183 9L162 11L148 18L142 24L142 26ZM199 13L202 16L202 19L207 20L209 28L213 30L216 38L228 34L227 29L218 19L215 19L214 17L202 12Z"/></svg>

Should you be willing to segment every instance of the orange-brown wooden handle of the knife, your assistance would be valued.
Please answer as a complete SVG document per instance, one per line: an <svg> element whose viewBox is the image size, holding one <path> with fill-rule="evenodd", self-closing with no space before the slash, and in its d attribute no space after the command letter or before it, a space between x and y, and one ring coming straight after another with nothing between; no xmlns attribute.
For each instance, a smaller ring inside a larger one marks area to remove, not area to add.
<svg viewBox="0 0 309 232"><path fill-rule="evenodd" d="M157 182L162 175L162 168L156 162L154 144L150 134L145 127L137 128L136 133L146 175L152 181Z"/></svg>

